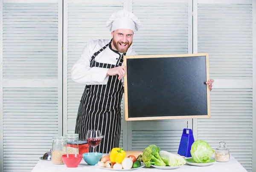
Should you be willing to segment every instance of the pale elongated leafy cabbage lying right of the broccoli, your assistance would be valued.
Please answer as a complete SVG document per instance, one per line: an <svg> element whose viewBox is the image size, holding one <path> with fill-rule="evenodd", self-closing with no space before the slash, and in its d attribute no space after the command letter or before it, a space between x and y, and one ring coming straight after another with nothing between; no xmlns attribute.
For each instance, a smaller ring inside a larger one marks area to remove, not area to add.
<svg viewBox="0 0 256 172"><path fill-rule="evenodd" d="M160 151L160 157L167 166L181 166L186 163L180 155L175 155L167 151Z"/></svg>

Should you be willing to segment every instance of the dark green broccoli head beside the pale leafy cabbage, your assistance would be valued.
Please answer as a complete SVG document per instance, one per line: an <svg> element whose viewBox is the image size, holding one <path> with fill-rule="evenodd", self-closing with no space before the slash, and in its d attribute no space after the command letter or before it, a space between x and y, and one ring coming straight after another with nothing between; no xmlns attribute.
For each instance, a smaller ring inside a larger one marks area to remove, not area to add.
<svg viewBox="0 0 256 172"><path fill-rule="evenodd" d="M149 145L143 150L142 160L146 167L150 167L151 164L156 166L166 166L161 159L159 152L160 147L156 145Z"/></svg>

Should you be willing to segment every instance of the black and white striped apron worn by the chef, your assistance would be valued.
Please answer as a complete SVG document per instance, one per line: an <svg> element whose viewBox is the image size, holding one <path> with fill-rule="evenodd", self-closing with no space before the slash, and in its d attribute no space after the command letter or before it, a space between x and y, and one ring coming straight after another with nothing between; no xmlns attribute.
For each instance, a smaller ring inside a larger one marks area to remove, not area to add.
<svg viewBox="0 0 256 172"><path fill-rule="evenodd" d="M111 40L112 41L112 40ZM110 42L111 43L111 42ZM105 45L91 57L90 67L114 68L122 66L123 55L119 53L116 65L108 63L98 63L95 57L109 44ZM79 139L86 139L87 131L99 129L105 137L96 152L108 153L112 148L119 146L121 132L121 100L124 88L121 80L117 76L109 76L106 85L87 85L81 97L79 111L76 118L75 133L79 134ZM89 150L92 152L92 149Z"/></svg>

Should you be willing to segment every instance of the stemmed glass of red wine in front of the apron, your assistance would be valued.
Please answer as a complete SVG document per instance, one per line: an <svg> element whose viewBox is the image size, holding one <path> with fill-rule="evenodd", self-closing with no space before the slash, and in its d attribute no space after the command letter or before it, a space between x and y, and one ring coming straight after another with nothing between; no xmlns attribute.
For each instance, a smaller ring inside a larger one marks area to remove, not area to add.
<svg viewBox="0 0 256 172"><path fill-rule="evenodd" d="M101 135L99 130L89 130L86 135L87 143L93 147L93 152L95 152L95 147L99 145L101 139L104 136Z"/></svg>

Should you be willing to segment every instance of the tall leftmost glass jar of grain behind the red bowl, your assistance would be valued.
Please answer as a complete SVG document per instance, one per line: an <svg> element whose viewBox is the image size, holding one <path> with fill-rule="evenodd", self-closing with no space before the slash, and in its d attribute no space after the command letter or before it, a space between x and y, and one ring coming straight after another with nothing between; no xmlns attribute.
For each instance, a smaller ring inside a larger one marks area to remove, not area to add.
<svg viewBox="0 0 256 172"><path fill-rule="evenodd" d="M62 136L52 137L52 163L64 164L61 156L65 154L67 154L67 138Z"/></svg>

